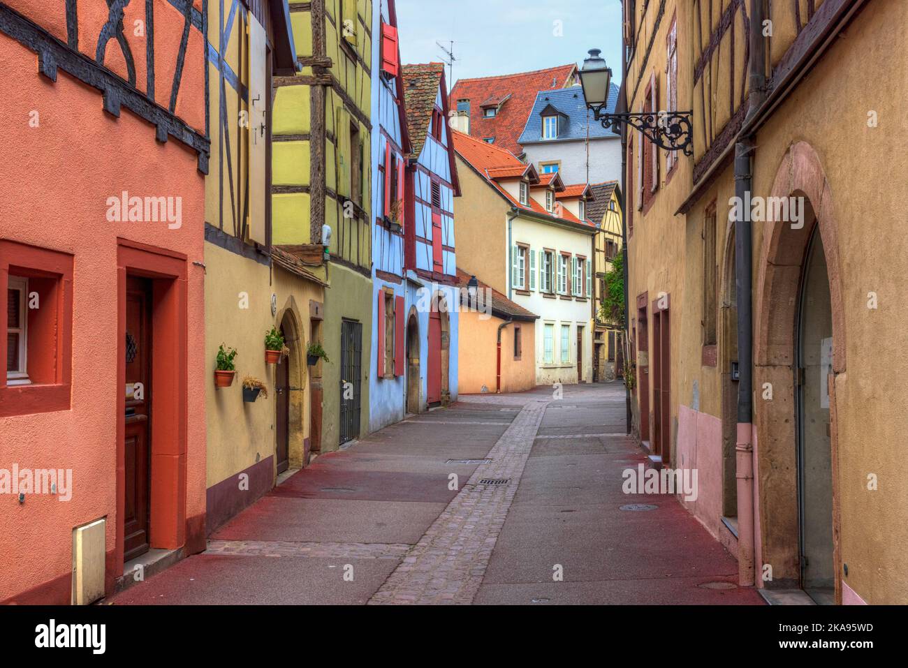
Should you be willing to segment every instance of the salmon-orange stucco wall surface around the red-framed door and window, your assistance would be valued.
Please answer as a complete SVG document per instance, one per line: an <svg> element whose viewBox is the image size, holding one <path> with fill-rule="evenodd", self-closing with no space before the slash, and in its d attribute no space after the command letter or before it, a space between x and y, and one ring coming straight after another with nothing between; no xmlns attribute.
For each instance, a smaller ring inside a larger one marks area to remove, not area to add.
<svg viewBox="0 0 908 668"><path fill-rule="evenodd" d="M143 48L136 53L133 46L137 61L143 60ZM184 468L174 475L185 493L184 501L177 497L169 502L184 505L179 508L185 517L183 541L197 542L196 534L203 538L208 384L198 351L204 349L204 271L192 262L203 260L204 182L194 151L173 138L155 142L153 126L125 107L119 118L104 113L101 93L62 69L55 83L48 81L37 74L35 53L2 32L0 62L5 112L0 124L0 238L74 257L70 408L0 418L0 468L72 469L72 499L31 495L20 505L15 497L0 497L0 601L69 603L75 526L106 517L108 589L123 568L122 545L117 546L117 535L122 535L122 528L117 531L117 486L123 476L117 470L117 414L124 395L117 378L123 350L118 237L172 251L183 264L186 280L179 291L186 309L180 316L183 334L177 332L176 339L180 346L184 341L188 354L180 371L184 397L175 402L183 404L184 418L173 433L184 439ZM203 100L196 83L196 74L203 76L202 54L188 53L185 67L181 98ZM32 112L38 113L37 127L29 124ZM202 104L196 112L203 122ZM197 125L197 120L188 121ZM108 222L106 200L123 191L181 197L182 226ZM176 510L163 507L161 512Z"/></svg>

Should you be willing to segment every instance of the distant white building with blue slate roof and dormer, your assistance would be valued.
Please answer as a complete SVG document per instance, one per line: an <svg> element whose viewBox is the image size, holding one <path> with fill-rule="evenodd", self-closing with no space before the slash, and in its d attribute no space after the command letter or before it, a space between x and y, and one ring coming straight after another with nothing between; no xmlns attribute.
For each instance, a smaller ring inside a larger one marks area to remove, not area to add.
<svg viewBox="0 0 908 668"><path fill-rule="evenodd" d="M612 83L608 112L615 111ZM540 174L559 172L565 183L599 183L621 178L621 135L593 120L580 86L540 90L518 138L524 160Z"/></svg>

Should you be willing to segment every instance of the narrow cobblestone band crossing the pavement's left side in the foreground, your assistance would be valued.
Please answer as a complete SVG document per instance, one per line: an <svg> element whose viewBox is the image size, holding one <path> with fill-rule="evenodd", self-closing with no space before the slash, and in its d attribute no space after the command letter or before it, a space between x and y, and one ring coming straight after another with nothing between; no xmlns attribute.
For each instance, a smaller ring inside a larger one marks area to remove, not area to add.
<svg viewBox="0 0 908 668"><path fill-rule="evenodd" d="M406 543L289 543L268 540L210 540L206 555L323 556L350 559L397 559L407 554Z"/></svg>

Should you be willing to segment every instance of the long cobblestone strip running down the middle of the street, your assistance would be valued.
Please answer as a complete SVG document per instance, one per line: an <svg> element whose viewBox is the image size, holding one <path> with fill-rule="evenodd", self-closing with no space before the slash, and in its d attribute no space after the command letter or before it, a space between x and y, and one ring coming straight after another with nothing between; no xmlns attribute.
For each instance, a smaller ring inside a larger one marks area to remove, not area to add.
<svg viewBox="0 0 908 668"><path fill-rule="evenodd" d="M469 604L482 584L498 533L517 494L548 401L521 409L479 467L369 604ZM506 485L480 479L509 478Z"/></svg>

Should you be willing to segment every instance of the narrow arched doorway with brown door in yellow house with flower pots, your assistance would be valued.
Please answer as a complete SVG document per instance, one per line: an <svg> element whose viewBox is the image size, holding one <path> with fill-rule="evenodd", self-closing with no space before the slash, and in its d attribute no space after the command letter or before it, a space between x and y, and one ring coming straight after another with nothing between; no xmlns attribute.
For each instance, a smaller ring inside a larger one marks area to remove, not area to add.
<svg viewBox="0 0 908 668"><path fill-rule="evenodd" d="M274 368L275 460L279 474L287 469L306 466L309 457L303 427L306 387L305 340L294 309L285 309L280 322L279 329L290 353L287 357L281 358L280 364ZM281 461L284 454L285 459Z"/></svg>

